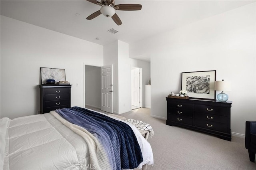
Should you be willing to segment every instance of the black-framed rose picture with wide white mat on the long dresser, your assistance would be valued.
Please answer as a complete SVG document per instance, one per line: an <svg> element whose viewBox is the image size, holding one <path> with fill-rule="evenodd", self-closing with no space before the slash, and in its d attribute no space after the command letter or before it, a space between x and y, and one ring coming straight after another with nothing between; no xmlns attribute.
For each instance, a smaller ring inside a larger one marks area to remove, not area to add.
<svg viewBox="0 0 256 170"><path fill-rule="evenodd" d="M189 98L215 100L216 70L181 73L181 90L186 90Z"/></svg>

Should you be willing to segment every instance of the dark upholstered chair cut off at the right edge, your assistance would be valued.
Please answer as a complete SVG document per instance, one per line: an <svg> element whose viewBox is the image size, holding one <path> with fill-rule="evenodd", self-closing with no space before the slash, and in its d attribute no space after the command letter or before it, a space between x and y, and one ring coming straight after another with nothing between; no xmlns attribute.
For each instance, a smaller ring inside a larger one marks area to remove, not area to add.
<svg viewBox="0 0 256 170"><path fill-rule="evenodd" d="M248 149L250 161L254 162L256 153L256 121L245 122L245 148Z"/></svg>

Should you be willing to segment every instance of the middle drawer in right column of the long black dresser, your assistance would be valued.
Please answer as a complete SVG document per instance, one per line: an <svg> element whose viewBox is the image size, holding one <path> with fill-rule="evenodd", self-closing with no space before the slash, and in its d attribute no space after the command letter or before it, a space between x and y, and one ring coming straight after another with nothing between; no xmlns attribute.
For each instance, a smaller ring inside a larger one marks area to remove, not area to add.
<svg viewBox="0 0 256 170"><path fill-rule="evenodd" d="M212 115L207 113L195 113L195 120L200 121L210 121L210 122L217 122L217 123L228 123L228 117L220 116L220 115Z"/></svg>

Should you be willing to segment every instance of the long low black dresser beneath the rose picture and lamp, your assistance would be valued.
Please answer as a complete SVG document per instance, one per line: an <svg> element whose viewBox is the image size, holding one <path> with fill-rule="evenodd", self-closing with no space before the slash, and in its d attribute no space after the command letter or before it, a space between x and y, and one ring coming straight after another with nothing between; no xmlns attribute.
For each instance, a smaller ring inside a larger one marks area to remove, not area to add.
<svg viewBox="0 0 256 170"><path fill-rule="evenodd" d="M186 127L231 141L232 101L217 102L166 97L166 125Z"/></svg>

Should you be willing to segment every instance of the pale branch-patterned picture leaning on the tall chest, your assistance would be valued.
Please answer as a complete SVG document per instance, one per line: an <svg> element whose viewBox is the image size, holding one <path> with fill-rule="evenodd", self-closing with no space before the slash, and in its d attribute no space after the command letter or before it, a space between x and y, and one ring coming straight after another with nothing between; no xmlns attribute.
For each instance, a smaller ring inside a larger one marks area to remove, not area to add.
<svg viewBox="0 0 256 170"><path fill-rule="evenodd" d="M66 81L65 69L40 67L41 84L46 84L46 80L54 79L55 82Z"/></svg>

